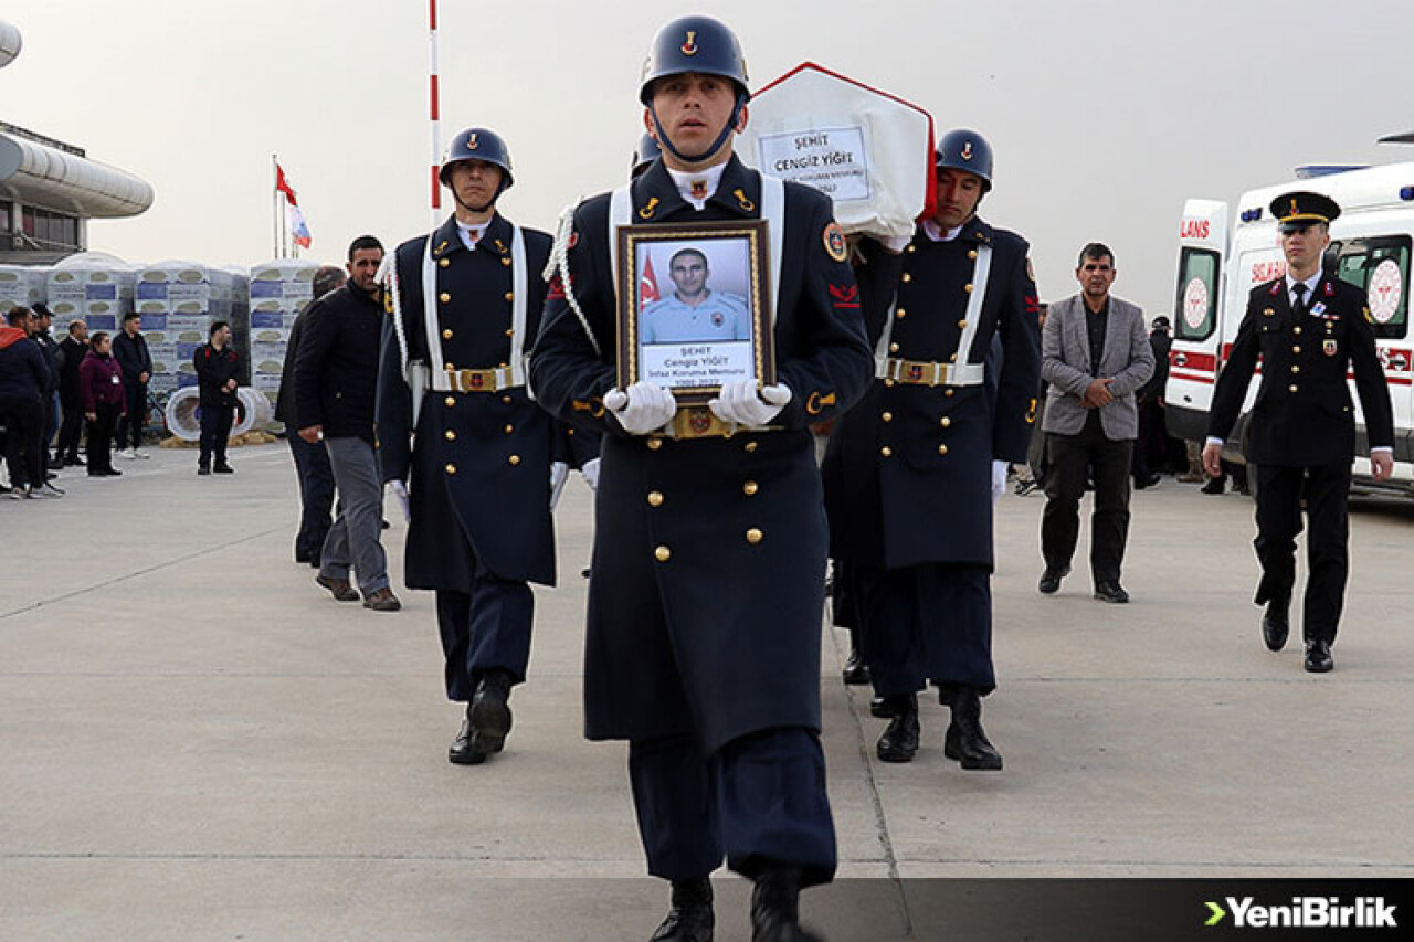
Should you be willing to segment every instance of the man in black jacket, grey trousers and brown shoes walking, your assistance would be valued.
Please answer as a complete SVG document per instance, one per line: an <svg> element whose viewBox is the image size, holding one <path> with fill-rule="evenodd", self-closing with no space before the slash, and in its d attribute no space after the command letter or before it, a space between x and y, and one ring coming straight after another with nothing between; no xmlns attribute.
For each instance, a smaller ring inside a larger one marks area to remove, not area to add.
<svg viewBox="0 0 1414 942"><path fill-rule="evenodd" d="M387 586L387 554L379 543L383 487L373 450L382 263L378 239L354 239L349 283L305 308L294 361L294 414L300 438L308 444L324 441L339 489L338 518L320 550L315 581L339 601L358 601L349 586L352 567L365 608L397 611L403 605Z"/></svg>

